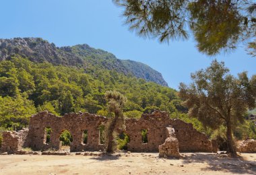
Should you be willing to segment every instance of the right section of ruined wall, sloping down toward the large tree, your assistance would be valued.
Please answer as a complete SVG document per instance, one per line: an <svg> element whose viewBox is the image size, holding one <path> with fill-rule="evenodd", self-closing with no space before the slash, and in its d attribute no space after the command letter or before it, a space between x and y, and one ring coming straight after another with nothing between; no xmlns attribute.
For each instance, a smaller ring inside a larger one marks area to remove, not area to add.
<svg viewBox="0 0 256 175"><path fill-rule="evenodd" d="M179 151L217 152L216 141L211 141L207 135L193 128L191 123L179 119L170 119L167 112L155 111L152 114L142 114L139 120L126 120L127 134L130 137L129 151L158 151L168 135L166 127L173 127L179 141ZM141 130L148 130L148 143L142 143ZM213 144L212 144L213 143Z"/></svg>

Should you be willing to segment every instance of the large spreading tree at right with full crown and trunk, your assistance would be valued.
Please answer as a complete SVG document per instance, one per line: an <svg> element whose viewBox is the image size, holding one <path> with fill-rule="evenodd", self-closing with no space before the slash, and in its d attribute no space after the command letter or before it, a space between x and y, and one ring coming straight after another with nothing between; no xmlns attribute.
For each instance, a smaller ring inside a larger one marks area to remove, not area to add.
<svg viewBox="0 0 256 175"><path fill-rule="evenodd" d="M236 78L229 74L223 62L215 60L207 69L191 75L193 83L189 87L180 85L179 96L185 100L189 116L213 129L226 126L227 153L231 155L236 155L232 131L238 122L243 122L247 109L255 107L255 77L250 80L243 72Z"/></svg>

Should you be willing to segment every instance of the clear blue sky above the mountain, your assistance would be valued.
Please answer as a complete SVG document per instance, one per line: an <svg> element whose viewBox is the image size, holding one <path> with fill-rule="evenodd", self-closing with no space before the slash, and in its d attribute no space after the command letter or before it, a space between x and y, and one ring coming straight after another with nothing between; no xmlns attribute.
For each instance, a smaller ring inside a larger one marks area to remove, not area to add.
<svg viewBox="0 0 256 175"><path fill-rule="evenodd" d="M89 44L112 52L119 59L146 63L162 73L171 88L191 82L190 74L224 61L233 75L256 73L256 58L241 44L234 52L208 57L187 41L159 44L136 36L123 25L121 8L111 0L8 0L1 2L0 38L40 37L57 46Z"/></svg>

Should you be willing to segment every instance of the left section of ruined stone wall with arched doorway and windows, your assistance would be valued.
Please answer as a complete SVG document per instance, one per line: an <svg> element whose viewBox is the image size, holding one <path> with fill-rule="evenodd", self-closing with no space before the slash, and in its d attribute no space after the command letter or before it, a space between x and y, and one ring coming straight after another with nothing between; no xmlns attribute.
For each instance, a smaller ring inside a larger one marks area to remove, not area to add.
<svg viewBox="0 0 256 175"><path fill-rule="evenodd" d="M48 112L40 112L30 118L28 147L33 150L59 149L59 137L63 131L67 130L73 137L70 151L98 151L103 148L100 144L99 127L105 121L104 116L88 113L69 113L59 117ZM46 127L52 129L49 143L46 143ZM87 144L83 143L85 130L88 131Z"/></svg>

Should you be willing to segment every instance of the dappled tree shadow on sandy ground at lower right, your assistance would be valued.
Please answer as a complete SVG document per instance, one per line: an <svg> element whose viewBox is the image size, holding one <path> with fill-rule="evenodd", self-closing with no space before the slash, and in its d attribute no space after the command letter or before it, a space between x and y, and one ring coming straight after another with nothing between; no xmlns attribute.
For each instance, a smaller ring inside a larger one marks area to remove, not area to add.
<svg viewBox="0 0 256 175"><path fill-rule="evenodd" d="M207 163L210 167L202 168L205 171L224 171L235 174L256 174L256 162L243 160L242 157L228 157L213 153L191 153L185 155L183 164Z"/></svg>

